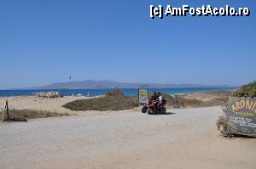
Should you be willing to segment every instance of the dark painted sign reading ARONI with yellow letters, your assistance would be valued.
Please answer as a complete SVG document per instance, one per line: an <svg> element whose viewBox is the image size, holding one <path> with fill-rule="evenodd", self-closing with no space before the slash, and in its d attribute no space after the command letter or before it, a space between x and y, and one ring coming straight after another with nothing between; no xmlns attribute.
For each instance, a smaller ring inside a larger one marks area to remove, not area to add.
<svg viewBox="0 0 256 169"><path fill-rule="evenodd" d="M230 98L227 132L256 137L256 98Z"/></svg>

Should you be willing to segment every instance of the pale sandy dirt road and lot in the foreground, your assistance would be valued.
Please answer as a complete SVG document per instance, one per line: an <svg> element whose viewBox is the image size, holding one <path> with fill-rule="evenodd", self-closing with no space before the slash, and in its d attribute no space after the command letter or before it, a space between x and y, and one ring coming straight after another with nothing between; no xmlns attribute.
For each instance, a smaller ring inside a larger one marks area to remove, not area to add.
<svg viewBox="0 0 256 169"><path fill-rule="evenodd" d="M0 122L0 168L256 168L255 138L224 138L219 107Z"/></svg>

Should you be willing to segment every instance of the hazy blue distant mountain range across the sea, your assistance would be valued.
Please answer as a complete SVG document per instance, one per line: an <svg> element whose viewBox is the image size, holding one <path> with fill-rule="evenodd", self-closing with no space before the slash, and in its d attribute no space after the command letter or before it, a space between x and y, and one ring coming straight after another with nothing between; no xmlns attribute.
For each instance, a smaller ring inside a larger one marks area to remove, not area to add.
<svg viewBox="0 0 256 169"><path fill-rule="evenodd" d="M108 80L93 81L85 80L79 82L55 82L42 87L26 87L22 89L105 89L105 88L171 88L171 87L229 87L228 85L201 85L201 84L157 84L157 83L124 83Z"/></svg>

